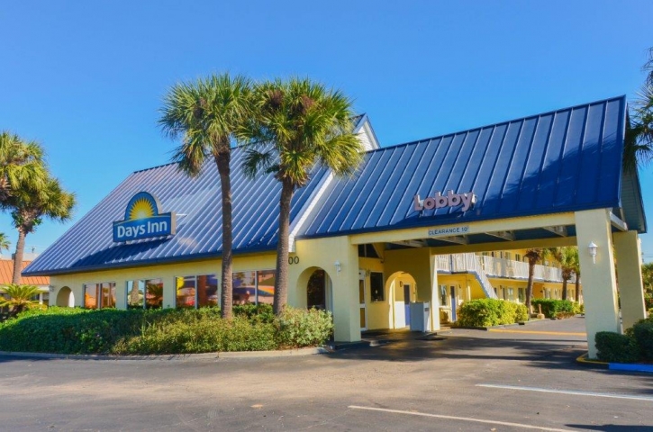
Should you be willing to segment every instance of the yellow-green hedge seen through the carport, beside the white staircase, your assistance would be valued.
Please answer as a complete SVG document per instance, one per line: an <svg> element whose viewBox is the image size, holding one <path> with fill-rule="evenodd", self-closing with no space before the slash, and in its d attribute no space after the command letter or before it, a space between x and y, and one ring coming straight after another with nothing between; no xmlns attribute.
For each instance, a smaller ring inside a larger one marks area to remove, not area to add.
<svg viewBox="0 0 653 432"><path fill-rule="evenodd" d="M458 326L491 327L528 320L526 306L495 299L476 299L458 308Z"/></svg>

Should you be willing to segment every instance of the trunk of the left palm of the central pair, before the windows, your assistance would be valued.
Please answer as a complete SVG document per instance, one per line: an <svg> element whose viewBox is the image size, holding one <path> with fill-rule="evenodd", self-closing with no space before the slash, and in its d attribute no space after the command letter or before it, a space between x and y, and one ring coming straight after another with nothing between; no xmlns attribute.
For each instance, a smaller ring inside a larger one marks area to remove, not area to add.
<svg viewBox="0 0 653 432"><path fill-rule="evenodd" d="M222 191L222 294L221 314L224 319L231 319L233 309L233 284L232 284L232 248L233 233L231 232L231 153L222 151L215 157L220 174L220 186Z"/></svg>

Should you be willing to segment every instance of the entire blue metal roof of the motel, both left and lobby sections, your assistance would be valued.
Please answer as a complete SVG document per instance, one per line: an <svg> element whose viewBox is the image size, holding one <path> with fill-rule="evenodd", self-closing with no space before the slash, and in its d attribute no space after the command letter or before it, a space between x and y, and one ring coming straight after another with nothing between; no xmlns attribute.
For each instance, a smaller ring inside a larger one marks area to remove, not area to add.
<svg viewBox="0 0 653 432"><path fill-rule="evenodd" d="M366 118L361 115L359 122ZM296 238L510 219L562 211L619 207L625 97L503 121L472 130L372 149L356 175L334 178ZM242 175L242 148L232 151L234 253L272 251L278 230L278 182ZM316 166L296 191L291 220L302 216L328 170ZM474 192L476 207L415 211L413 195ZM177 235L113 243L134 193L158 196L176 211ZM220 257L221 199L217 169L207 161L195 179L166 164L129 175L82 217L23 275L54 275Z"/></svg>

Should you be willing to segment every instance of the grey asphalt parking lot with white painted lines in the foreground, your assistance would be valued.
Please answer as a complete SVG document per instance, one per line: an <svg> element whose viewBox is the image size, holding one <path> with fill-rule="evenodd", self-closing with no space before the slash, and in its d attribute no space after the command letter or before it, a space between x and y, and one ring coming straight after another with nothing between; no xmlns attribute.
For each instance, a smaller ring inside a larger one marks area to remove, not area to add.
<svg viewBox="0 0 653 432"><path fill-rule="evenodd" d="M582 318L331 355L0 357L2 430L653 430L653 375L576 364Z"/></svg>

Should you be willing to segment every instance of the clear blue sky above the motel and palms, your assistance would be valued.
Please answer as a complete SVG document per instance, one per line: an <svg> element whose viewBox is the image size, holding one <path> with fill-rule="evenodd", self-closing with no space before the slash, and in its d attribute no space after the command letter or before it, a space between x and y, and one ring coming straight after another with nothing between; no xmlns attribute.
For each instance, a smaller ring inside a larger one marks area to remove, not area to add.
<svg viewBox="0 0 653 432"><path fill-rule="evenodd" d="M5 2L0 130L41 141L77 193L77 220L132 171L168 162L176 144L156 121L179 80L311 76L353 97L391 145L632 98L652 16L650 0ZM652 173L641 173L649 217ZM15 242L10 222L0 215ZM46 221L27 247L71 223ZM643 239L653 257L653 234Z"/></svg>

